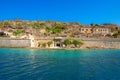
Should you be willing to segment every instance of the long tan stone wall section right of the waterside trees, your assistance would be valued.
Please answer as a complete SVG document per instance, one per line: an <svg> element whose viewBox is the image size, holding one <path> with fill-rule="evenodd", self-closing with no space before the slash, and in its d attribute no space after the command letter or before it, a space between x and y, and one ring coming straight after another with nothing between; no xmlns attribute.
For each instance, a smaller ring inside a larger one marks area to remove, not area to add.
<svg viewBox="0 0 120 80"><path fill-rule="evenodd" d="M83 40L81 48L113 48L120 49L120 39Z"/></svg>

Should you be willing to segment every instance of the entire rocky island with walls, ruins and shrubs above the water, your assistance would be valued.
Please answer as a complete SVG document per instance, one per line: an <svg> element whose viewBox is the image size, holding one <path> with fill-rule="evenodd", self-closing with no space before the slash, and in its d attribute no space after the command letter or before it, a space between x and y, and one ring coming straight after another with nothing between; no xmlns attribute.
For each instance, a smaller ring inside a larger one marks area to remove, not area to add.
<svg viewBox="0 0 120 80"><path fill-rule="evenodd" d="M120 49L120 27L104 23L4 20L0 47L39 49Z"/></svg>

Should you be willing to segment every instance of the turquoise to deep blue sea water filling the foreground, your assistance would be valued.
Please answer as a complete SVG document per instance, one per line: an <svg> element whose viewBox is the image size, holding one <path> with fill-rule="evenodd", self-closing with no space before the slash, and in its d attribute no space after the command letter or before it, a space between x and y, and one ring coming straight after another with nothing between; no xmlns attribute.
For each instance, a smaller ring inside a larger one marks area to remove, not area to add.
<svg viewBox="0 0 120 80"><path fill-rule="evenodd" d="M120 80L120 50L2 48L0 80Z"/></svg>

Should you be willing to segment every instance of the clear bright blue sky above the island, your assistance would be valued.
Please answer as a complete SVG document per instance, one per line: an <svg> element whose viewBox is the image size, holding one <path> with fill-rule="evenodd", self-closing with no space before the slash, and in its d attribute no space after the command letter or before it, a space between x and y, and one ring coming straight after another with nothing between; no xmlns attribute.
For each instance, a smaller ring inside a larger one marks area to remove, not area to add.
<svg viewBox="0 0 120 80"><path fill-rule="evenodd" d="M0 0L0 20L120 25L120 0Z"/></svg>

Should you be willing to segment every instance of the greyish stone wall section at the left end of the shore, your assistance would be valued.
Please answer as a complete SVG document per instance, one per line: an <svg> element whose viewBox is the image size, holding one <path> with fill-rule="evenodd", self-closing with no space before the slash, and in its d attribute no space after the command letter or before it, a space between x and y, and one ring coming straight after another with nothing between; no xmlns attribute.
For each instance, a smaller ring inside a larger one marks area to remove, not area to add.
<svg viewBox="0 0 120 80"><path fill-rule="evenodd" d="M30 45L30 40L0 39L0 47L26 48Z"/></svg>

